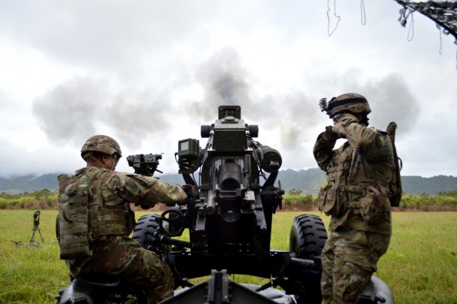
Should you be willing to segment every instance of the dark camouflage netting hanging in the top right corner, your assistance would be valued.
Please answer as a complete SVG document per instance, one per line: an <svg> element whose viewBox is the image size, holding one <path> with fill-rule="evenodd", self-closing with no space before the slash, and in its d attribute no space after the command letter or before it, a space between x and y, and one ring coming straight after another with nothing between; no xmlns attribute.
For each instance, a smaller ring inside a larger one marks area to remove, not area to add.
<svg viewBox="0 0 457 304"><path fill-rule="evenodd" d="M398 19L402 26L406 26L409 14L418 11L435 21L438 29L442 30L443 34L454 36L457 44L457 1L395 1L404 8L400 11L401 16Z"/></svg>

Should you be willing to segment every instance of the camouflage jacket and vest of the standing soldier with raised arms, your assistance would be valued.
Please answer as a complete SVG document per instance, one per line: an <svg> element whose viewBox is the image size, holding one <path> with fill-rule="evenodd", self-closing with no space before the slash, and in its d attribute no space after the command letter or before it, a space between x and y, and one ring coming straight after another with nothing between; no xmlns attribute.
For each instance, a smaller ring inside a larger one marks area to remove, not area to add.
<svg viewBox="0 0 457 304"><path fill-rule="evenodd" d="M391 234L387 198L393 170L393 151L385 132L361 126L356 118L341 124L346 143L333 150L336 139L321 133L313 148L318 166L327 173L318 205L338 227Z"/></svg>

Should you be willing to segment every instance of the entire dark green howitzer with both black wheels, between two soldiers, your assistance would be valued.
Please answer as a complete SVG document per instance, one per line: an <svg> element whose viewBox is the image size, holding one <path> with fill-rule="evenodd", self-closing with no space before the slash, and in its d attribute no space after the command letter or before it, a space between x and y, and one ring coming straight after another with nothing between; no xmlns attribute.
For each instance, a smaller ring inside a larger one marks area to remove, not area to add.
<svg viewBox="0 0 457 304"><path fill-rule="evenodd" d="M321 218L299 216L291 230L291 251L271 250L272 217L283 195L281 183L275 186L282 158L255 141L257 136L258 126L244 123L239 106L219 106L215 123L201 126L201 137L208 138L204 148L194 138L178 144L179 173L194 186L195 196L161 216L142 216L133 238L162 255L176 287L224 270L269 279L257 289L280 286L284 296L290 295L281 303L318 303L326 230ZM185 229L189 240L177 239Z"/></svg>

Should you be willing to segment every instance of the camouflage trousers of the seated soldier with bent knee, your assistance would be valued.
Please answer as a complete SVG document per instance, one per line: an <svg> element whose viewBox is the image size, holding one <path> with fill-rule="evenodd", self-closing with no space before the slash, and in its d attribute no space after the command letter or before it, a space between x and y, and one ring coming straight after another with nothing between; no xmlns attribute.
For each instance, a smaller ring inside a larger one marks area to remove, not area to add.
<svg viewBox="0 0 457 304"><path fill-rule="evenodd" d="M169 265L156 253L141 248L135 240L109 235L96 240L93 254L66 260L70 275L114 275L144 289L148 303L158 303L174 294L174 280Z"/></svg>

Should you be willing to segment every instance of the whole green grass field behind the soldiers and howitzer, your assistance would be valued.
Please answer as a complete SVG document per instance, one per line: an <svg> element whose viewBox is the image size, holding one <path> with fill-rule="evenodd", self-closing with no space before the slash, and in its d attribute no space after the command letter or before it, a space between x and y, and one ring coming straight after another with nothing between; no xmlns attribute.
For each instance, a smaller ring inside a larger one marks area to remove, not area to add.
<svg viewBox="0 0 457 304"><path fill-rule="evenodd" d="M0 211L0 303L55 303L54 295L68 285L54 234L56 212L41 212L44 245L34 247L23 244L31 240L34 211ZM298 214L273 216L272 249L288 250ZM328 224L326 216L314 214ZM396 212L393 231L377 275L390 286L396 303L457 303L457 212ZM41 243L38 232L34 243Z"/></svg>

